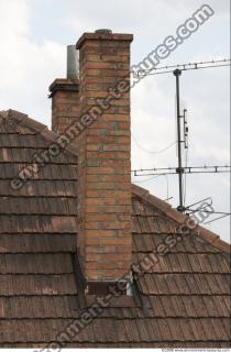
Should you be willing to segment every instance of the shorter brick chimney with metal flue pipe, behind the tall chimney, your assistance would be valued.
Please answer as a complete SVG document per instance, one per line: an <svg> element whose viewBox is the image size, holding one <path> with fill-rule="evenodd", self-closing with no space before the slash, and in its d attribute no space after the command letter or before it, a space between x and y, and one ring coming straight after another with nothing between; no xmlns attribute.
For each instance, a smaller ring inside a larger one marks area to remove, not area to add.
<svg viewBox="0 0 231 352"><path fill-rule="evenodd" d="M50 86L52 131L63 133L79 118L78 52L67 46L67 78L57 78Z"/></svg>

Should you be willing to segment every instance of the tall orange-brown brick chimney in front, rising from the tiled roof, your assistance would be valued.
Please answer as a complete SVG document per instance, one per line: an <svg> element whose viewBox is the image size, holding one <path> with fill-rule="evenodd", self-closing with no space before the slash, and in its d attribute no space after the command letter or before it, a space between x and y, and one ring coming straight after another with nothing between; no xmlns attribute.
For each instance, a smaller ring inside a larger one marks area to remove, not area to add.
<svg viewBox="0 0 231 352"><path fill-rule="evenodd" d="M132 264L132 40L131 34L99 30L85 33L76 45L79 113L101 109L78 139L78 246L88 294L121 279Z"/></svg>

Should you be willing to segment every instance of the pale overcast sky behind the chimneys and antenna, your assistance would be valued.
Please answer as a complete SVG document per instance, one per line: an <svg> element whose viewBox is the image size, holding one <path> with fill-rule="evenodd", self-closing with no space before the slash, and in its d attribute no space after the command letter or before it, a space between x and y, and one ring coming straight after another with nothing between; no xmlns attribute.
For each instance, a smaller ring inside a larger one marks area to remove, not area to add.
<svg viewBox="0 0 231 352"><path fill-rule="evenodd" d="M163 64L230 57L230 1L208 0L215 15ZM132 64L174 35L201 6L198 0L0 0L0 110L15 109L50 125L48 86L65 77L66 45L100 28L133 33ZM230 164L229 68L186 72L180 79L188 109L188 165ZM132 168L176 166L175 80L172 74L146 77L132 90ZM134 140L136 142L134 142ZM148 152L147 152L148 151ZM177 177L134 177L175 207ZM212 197L216 211L230 211L228 174L187 177L186 205ZM208 228L230 241L230 217Z"/></svg>

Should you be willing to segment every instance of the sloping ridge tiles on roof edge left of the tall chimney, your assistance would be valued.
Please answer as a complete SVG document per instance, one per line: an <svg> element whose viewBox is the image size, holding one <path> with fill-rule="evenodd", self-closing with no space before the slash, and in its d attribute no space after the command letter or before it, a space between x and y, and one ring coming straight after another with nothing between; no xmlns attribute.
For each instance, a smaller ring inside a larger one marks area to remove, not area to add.
<svg viewBox="0 0 231 352"><path fill-rule="evenodd" d="M1 112L0 112L1 113ZM56 134L55 132L51 131L46 124L41 123L32 118L29 118L28 114L16 111L16 110L12 110L9 109L7 111L8 117L15 119L16 121L19 121L22 125L36 131L37 133L40 133L41 136L43 136L46 141L52 142L52 143L58 143L57 139L58 139L58 134ZM7 117L4 114L4 117ZM72 146L72 145L67 145L65 148L63 148L64 151L67 151L70 154L74 154L75 156L77 155L77 150Z"/></svg>

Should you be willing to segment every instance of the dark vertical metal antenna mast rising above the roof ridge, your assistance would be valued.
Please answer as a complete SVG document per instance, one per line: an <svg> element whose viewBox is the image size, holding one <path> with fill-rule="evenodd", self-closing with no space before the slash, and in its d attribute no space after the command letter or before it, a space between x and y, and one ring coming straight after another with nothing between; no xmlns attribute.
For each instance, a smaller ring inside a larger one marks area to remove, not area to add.
<svg viewBox="0 0 231 352"><path fill-rule="evenodd" d="M178 154L178 167L176 169L179 175L179 206L177 207L178 211L184 211L183 202L183 162L182 162L182 116L180 116L180 102L179 102L179 76L182 75L180 69L174 70L174 76L176 77L176 109L177 109L177 154Z"/></svg>

